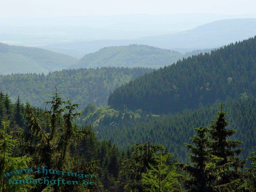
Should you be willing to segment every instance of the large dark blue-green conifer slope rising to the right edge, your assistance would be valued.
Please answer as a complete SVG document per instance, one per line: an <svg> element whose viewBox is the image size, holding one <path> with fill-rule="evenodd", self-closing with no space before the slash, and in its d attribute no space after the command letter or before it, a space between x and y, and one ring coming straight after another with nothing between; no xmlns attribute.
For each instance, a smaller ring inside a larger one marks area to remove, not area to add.
<svg viewBox="0 0 256 192"><path fill-rule="evenodd" d="M112 108L142 109L154 114L173 113L256 95L256 36L145 74L117 88L108 98Z"/></svg>

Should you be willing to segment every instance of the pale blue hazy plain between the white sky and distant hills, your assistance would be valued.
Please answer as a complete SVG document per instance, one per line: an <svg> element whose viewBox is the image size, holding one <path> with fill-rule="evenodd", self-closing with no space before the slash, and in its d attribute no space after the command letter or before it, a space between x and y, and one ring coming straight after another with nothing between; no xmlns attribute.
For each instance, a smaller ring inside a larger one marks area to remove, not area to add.
<svg viewBox="0 0 256 192"><path fill-rule="evenodd" d="M255 17L256 14L186 13L169 15L122 14L77 17L1 18L0 42L11 45L38 47L49 44L99 39L138 39L144 36L171 34L189 30L215 20ZM130 42L129 44L133 43L136 44L136 42ZM122 44L109 44L108 46L119 45ZM98 51L103 47L100 46L94 51ZM79 59L86 53L94 51L84 52ZM65 52L62 53L66 54Z"/></svg>

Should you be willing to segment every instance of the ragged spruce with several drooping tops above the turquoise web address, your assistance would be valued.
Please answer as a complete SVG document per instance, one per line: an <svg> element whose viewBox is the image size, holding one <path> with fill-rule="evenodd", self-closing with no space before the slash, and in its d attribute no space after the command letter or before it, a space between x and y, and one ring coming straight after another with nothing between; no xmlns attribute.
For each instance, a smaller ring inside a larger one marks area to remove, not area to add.
<svg viewBox="0 0 256 192"><path fill-rule="evenodd" d="M31 166L47 166L48 169L54 170L70 170L70 172L87 172L95 174L98 170L98 161L76 163L75 159L70 156L71 142L74 140L82 140L89 137L93 132L85 128L78 128L73 124L73 119L78 116L75 109L78 104L72 104L70 100L63 101L57 91L52 94L52 100L46 103L51 104L49 110L43 113L47 119L49 132L45 132L40 125L40 121L35 114L35 108L29 104L26 105L26 115L28 120L28 132L15 132L20 140L23 151L33 158ZM63 107L64 105L64 107ZM41 177L36 175L35 177ZM56 175L49 175L49 180L55 179ZM72 177L67 177L72 180ZM43 190L46 186L40 185L36 190ZM98 186L91 188L91 191L97 191ZM54 185L54 191L71 191L71 188L86 188L84 186L57 186Z"/></svg>

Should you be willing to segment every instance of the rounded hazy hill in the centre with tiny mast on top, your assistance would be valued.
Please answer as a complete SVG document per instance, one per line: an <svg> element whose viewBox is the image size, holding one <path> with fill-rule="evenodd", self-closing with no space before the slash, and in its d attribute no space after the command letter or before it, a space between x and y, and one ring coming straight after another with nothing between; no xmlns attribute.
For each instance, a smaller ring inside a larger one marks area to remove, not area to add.
<svg viewBox="0 0 256 192"><path fill-rule="evenodd" d="M97 67L150 67L171 65L184 55L166 49L147 45L131 44L128 46L113 46L86 54L72 68Z"/></svg>

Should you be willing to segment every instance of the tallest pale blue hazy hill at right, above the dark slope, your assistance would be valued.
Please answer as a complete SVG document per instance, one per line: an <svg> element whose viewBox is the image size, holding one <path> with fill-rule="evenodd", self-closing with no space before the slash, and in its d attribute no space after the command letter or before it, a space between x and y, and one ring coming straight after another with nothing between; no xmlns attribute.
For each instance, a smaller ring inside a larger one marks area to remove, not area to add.
<svg viewBox="0 0 256 192"><path fill-rule="evenodd" d="M143 37L140 44L188 51L220 47L256 35L256 19L218 20L176 34Z"/></svg>

